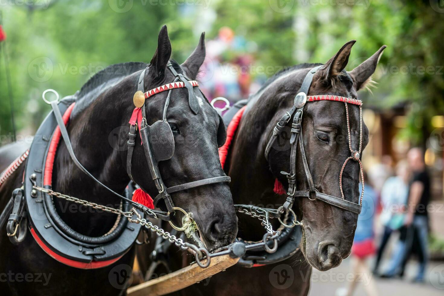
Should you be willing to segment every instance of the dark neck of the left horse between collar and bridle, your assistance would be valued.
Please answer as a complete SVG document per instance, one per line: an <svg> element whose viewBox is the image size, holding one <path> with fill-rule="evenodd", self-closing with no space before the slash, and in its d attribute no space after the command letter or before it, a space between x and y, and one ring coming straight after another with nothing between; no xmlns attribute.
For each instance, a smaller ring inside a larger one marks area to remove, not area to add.
<svg viewBox="0 0 444 296"><path fill-rule="evenodd" d="M70 119L67 130L79 162L100 182L123 195L130 181L123 164L124 159L126 160L126 150L116 150L108 140L111 131L128 125L127 122L134 107L131 106L131 99L122 102L122 98L132 98L129 91L127 95L122 95L122 93L126 93L124 89L114 90L121 87L116 86L105 91L81 113L75 114ZM52 188L61 193L98 204L119 206L119 197L104 189L75 166L62 142L54 162ZM82 212L85 210L83 209ZM63 210L63 203L59 204L60 216L71 227L78 219L103 222L105 229L109 223L115 221L114 214L97 213L91 209L87 209L86 212L81 213L79 208L74 210L66 210L65 208ZM71 223L69 223L70 221ZM77 231L82 232L83 228L83 233L88 233L88 227L92 225L90 223L83 224L84 226L81 226Z"/></svg>

